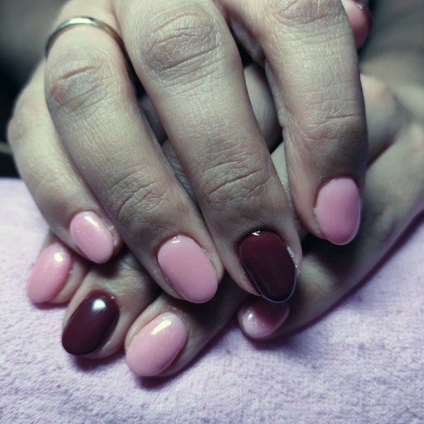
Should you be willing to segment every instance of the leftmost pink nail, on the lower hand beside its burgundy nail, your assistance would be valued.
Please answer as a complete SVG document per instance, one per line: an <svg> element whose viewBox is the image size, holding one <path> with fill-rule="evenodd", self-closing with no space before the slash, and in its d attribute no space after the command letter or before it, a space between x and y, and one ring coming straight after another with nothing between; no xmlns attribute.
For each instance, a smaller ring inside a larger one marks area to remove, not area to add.
<svg viewBox="0 0 424 424"><path fill-rule="evenodd" d="M63 289L72 269L72 254L60 243L48 246L38 258L26 292L31 301L52 300Z"/></svg>

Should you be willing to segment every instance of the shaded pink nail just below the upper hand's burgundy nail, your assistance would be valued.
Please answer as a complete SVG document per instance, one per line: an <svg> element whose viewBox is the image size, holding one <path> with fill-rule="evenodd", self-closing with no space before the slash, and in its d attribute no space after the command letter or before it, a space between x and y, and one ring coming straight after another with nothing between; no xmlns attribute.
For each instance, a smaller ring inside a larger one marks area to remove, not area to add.
<svg viewBox="0 0 424 424"><path fill-rule="evenodd" d="M283 324L289 314L287 303L273 304L265 299L255 299L241 313L244 332L253 338L267 337Z"/></svg>

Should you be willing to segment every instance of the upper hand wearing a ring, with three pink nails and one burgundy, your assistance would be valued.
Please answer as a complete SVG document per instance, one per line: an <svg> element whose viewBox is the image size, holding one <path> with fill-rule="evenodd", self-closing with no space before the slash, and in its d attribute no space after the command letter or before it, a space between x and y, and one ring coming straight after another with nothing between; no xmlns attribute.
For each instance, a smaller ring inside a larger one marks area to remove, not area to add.
<svg viewBox="0 0 424 424"><path fill-rule="evenodd" d="M77 253L106 262L125 242L172 296L209 300L225 267L247 292L284 301L300 241L228 24L265 64L302 223L338 244L358 228L366 165L354 38L339 0L215 3L74 0L58 19L91 15L120 33L201 212L99 29L61 33L8 136L50 228Z"/></svg>

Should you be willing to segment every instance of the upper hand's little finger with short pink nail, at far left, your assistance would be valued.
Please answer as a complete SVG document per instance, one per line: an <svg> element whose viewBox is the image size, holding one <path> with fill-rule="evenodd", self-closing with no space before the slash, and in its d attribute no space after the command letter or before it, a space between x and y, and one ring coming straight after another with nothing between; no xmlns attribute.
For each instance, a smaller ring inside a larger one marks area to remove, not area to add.
<svg viewBox="0 0 424 424"><path fill-rule="evenodd" d="M89 260L106 262L122 240L58 139L45 104L44 72L43 62L19 96L8 141L19 173L52 231Z"/></svg>

